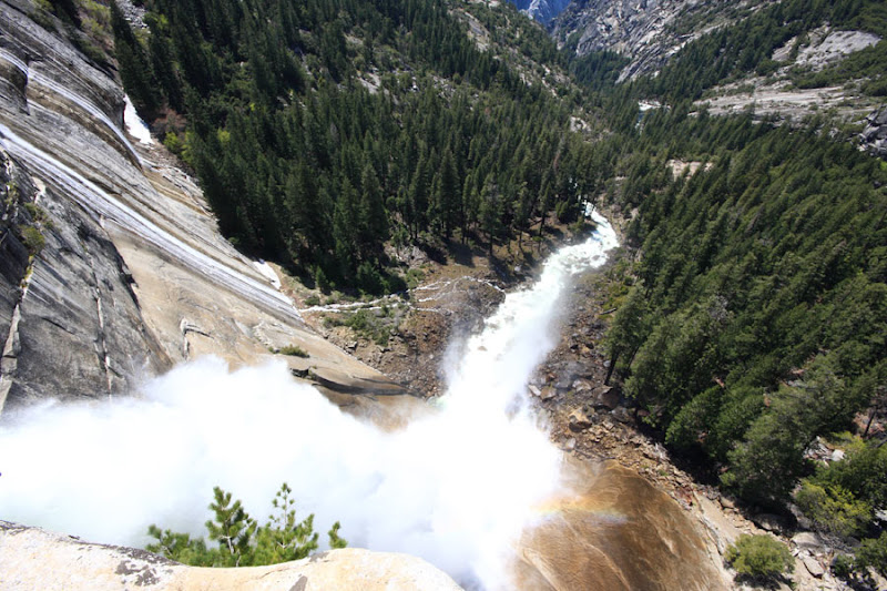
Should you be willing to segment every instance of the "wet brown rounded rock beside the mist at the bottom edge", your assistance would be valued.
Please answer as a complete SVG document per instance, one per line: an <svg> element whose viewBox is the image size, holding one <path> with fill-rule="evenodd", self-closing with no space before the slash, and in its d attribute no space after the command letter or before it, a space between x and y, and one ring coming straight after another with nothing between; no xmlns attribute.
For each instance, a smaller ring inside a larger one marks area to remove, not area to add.
<svg viewBox="0 0 887 591"><path fill-rule="evenodd" d="M568 492L520 540L521 589L730 589L700 524L671 497L615 462L565 469Z"/></svg>

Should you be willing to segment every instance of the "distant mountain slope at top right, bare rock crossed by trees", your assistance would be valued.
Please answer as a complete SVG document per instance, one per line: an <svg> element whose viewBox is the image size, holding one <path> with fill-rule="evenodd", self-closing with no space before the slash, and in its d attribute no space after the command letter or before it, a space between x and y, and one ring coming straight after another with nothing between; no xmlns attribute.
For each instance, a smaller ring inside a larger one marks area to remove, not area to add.
<svg viewBox="0 0 887 591"><path fill-rule="evenodd" d="M638 80L646 98L702 99L716 114L858 121L887 92L885 19L875 1L592 1L571 6L554 32L591 83Z"/></svg>

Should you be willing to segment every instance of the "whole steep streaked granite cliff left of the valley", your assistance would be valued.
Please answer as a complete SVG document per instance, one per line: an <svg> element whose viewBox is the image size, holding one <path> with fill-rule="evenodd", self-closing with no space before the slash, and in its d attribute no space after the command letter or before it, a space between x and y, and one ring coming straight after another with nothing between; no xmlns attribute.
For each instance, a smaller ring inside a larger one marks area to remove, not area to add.
<svg viewBox="0 0 887 591"><path fill-rule="evenodd" d="M163 147L126 133L114 72L38 10L0 2L0 411L284 345L307 350L290 366L327 386L394 388L306 327Z"/></svg>

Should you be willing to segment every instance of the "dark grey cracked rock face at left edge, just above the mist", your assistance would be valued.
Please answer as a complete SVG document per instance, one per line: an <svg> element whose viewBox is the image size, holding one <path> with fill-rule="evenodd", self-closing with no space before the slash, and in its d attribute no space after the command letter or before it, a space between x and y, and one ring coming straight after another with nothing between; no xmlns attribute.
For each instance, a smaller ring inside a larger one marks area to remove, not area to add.
<svg viewBox="0 0 887 591"><path fill-rule="evenodd" d="M0 164L7 172L0 193L8 203L14 195L18 210L8 212L0 246L0 409L8 395L16 403L47 393L106 396L166 369L170 359L145 326L132 275L108 233L55 190L40 191L1 150Z"/></svg>

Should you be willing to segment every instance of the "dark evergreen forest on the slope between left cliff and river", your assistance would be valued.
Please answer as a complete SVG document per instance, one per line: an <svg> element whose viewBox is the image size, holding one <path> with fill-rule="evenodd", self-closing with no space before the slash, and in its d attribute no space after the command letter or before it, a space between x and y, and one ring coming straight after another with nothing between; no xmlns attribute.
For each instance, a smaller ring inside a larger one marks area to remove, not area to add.
<svg viewBox="0 0 887 591"><path fill-rule="evenodd" d="M575 220L600 182L593 146L570 131L574 105L478 49L440 2L146 7L146 42L113 19L133 101L150 119L184 116L166 143L197 172L223 233L322 287L399 289L388 241L476 236L491 251L543 232L550 213ZM495 30L497 14L476 11ZM523 55L557 55L511 17Z"/></svg>

